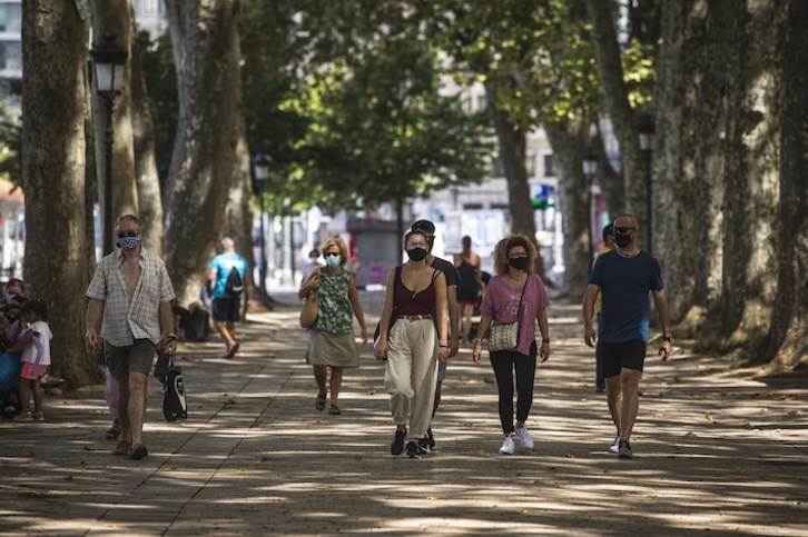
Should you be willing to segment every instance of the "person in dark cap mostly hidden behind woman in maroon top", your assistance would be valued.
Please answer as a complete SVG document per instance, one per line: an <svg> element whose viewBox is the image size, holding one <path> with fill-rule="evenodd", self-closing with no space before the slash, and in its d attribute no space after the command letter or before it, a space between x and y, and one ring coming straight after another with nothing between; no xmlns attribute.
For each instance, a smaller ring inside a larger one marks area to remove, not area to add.
<svg viewBox="0 0 808 537"><path fill-rule="evenodd" d="M435 225L430 220L417 220L412 225L411 231L420 231L426 237L426 265L443 272L446 279L446 300L449 307L449 357L452 358L460 349L460 308L457 307L457 284L460 282L460 274L453 263L445 259L432 255L435 246ZM432 406L432 418L441 406L441 394L443 391L443 381L446 378L447 361L439 360L437 381L435 384L435 398ZM426 428L426 438L430 449L435 449L435 437L432 434L432 418L430 426Z"/></svg>

